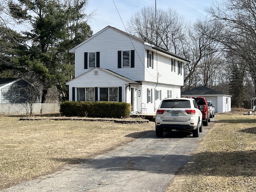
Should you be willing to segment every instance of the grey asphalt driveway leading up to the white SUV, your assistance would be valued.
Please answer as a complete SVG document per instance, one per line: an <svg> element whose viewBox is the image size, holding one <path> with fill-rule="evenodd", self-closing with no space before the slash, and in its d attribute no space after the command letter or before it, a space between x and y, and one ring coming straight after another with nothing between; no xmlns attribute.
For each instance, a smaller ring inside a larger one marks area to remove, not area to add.
<svg viewBox="0 0 256 192"><path fill-rule="evenodd" d="M150 132L79 165L65 166L1 192L164 192L178 169L190 162L211 126L203 126L199 138L187 132L157 138Z"/></svg>

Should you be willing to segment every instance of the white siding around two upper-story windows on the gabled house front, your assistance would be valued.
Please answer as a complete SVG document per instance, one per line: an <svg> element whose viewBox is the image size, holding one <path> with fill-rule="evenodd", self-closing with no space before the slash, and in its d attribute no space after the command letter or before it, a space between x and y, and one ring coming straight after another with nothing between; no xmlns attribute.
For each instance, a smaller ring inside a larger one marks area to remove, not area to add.
<svg viewBox="0 0 256 192"><path fill-rule="evenodd" d="M132 42L131 42L132 41ZM134 68L118 68L118 51L136 50L134 54ZM100 68L112 70L135 81L144 80L144 44L138 42L111 28L99 33L75 51L75 77L88 72L84 69L84 52L100 52Z"/></svg>

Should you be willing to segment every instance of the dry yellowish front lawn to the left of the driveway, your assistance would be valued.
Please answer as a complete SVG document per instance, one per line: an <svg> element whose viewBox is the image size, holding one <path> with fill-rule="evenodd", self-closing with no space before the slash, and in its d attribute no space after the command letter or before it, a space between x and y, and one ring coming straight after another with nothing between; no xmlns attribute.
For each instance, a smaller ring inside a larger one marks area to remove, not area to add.
<svg viewBox="0 0 256 192"><path fill-rule="evenodd" d="M154 122L30 120L0 116L0 190L55 172L154 130Z"/></svg>

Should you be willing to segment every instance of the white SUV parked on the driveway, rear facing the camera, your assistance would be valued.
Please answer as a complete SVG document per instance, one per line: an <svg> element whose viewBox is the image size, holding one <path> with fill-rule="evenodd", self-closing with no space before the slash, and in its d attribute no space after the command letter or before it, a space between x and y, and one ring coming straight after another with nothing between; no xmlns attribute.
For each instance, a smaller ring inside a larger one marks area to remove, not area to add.
<svg viewBox="0 0 256 192"><path fill-rule="evenodd" d="M164 131L192 131L193 137L202 132L202 113L193 98L165 98L156 111L156 136Z"/></svg>

